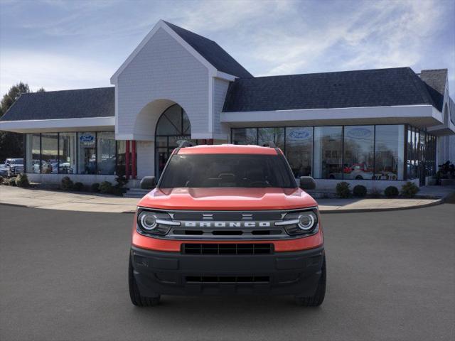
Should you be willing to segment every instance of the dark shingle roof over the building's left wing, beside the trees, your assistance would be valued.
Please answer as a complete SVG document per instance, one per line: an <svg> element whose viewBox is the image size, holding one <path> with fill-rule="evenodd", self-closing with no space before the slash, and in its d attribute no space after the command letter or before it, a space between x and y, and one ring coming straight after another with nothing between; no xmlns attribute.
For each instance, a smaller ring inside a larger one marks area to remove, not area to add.
<svg viewBox="0 0 455 341"><path fill-rule="evenodd" d="M114 87L100 87L21 94L0 120L114 116Z"/></svg>

